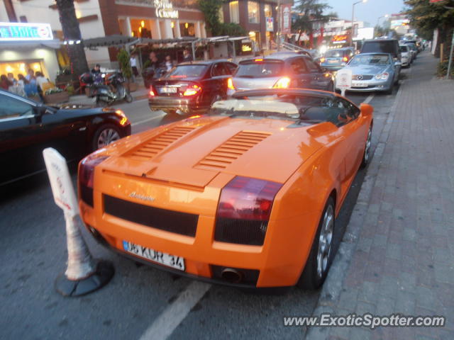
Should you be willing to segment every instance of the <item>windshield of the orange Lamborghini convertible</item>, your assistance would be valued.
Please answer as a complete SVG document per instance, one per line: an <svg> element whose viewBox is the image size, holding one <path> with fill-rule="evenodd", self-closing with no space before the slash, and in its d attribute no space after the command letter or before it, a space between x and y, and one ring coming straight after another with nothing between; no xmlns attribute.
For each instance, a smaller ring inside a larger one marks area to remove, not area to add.
<svg viewBox="0 0 454 340"><path fill-rule="evenodd" d="M249 119L277 118L308 124L337 124L341 111L345 111L345 105L338 98L284 94L216 101L208 114Z"/></svg>

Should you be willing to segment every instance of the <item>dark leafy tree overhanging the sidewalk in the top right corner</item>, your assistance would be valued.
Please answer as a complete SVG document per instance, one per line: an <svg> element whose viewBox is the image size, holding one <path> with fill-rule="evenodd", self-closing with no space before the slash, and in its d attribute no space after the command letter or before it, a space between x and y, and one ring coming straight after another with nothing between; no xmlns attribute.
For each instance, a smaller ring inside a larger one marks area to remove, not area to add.
<svg viewBox="0 0 454 340"><path fill-rule="evenodd" d="M431 39L433 30L438 28L438 43L448 42L454 28L454 8L448 7L446 1L429 3L428 0L406 0L407 16L410 25L416 28L423 38ZM437 46L438 50L438 46Z"/></svg>

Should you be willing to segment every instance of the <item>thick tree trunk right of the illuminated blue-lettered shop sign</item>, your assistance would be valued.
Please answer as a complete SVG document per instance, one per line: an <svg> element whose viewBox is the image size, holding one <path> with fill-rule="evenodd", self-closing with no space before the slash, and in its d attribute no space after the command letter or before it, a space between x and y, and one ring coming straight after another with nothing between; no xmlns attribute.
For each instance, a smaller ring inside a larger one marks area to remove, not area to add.
<svg viewBox="0 0 454 340"><path fill-rule="evenodd" d="M80 74L88 72L87 57L85 57L84 44L80 34L79 21L74 10L74 0L56 0L60 23L62 23L65 40L73 41L67 45L71 62L71 74L74 81L79 81ZM79 43L76 43L79 41Z"/></svg>

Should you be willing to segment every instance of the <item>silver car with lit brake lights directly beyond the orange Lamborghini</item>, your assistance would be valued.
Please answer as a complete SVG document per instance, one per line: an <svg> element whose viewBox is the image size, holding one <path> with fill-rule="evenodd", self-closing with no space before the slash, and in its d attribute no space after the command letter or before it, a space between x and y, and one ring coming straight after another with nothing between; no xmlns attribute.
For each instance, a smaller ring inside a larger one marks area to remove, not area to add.
<svg viewBox="0 0 454 340"><path fill-rule="evenodd" d="M242 60L228 82L228 95L250 89L305 88L333 91L333 76L311 57L295 52Z"/></svg>

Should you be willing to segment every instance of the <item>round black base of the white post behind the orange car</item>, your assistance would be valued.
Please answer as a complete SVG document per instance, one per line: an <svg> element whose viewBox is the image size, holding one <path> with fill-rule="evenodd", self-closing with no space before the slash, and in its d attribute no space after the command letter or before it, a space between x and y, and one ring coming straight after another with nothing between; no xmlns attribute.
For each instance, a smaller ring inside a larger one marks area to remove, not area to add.
<svg viewBox="0 0 454 340"><path fill-rule="evenodd" d="M55 280L55 289L63 296L82 296L103 288L114 276L115 269L109 261L101 260L96 265L96 271L82 280L68 280L65 273Z"/></svg>

